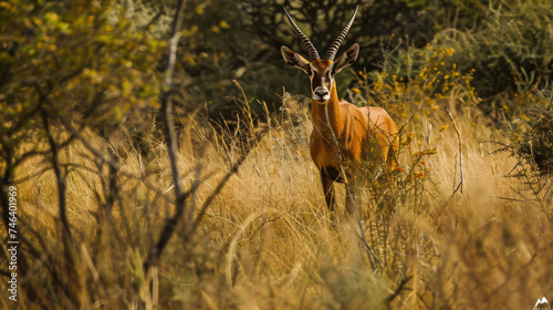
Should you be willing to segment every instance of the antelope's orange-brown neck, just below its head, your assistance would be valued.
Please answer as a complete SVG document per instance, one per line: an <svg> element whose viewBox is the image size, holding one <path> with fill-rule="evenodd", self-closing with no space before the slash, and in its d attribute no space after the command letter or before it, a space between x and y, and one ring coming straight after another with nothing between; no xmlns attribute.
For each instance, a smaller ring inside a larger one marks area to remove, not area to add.
<svg viewBox="0 0 553 310"><path fill-rule="evenodd" d="M325 110L327 110L327 112ZM313 117L313 126L315 127L314 130L319 131L324 136L332 136L332 133L328 130L328 123L336 136L342 133L343 121L340 111L336 82L332 82L331 99L326 104L323 105L315 100L311 100L311 113ZM326 120L326 113L328 114L328 120Z"/></svg>

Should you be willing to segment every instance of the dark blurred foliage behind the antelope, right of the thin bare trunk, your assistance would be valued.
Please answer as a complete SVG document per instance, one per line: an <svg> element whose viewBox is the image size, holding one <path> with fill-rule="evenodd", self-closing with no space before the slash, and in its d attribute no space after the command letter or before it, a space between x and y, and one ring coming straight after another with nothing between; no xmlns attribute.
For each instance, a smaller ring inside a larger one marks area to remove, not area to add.
<svg viewBox="0 0 553 310"><path fill-rule="evenodd" d="M420 56L420 49L428 44L456 51L448 65L455 63L460 75L473 73L480 107L495 121L505 107L523 114L535 103L535 92L549 87L553 10L547 1L189 1L196 9L185 22L185 79L209 76L186 94L197 103L191 107L204 105L212 118L232 118L240 90L229 80L212 82L231 72L240 73L252 100L272 108L279 107L282 86L292 94L309 94L307 79L286 68L279 53L288 45L305 54L282 7L324 53L357 4L359 12L343 46L356 42L362 52L353 69L338 78L343 97L347 89L358 86L354 72L382 73L395 66L395 75L407 78L424 70L428 59ZM401 61L413 49L420 53ZM509 106L503 99L513 95L520 99ZM264 114L261 105L253 105L253 113Z"/></svg>

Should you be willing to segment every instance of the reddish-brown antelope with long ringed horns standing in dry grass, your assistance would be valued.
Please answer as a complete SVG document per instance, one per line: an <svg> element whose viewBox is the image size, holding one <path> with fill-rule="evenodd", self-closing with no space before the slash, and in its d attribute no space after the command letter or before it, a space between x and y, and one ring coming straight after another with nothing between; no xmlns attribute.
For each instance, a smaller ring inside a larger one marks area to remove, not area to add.
<svg viewBox="0 0 553 310"><path fill-rule="evenodd" d="M326 52L325 59L310 39L295 24L284 8L290 24L295 34L306 48L311 61L286 46L281 48L282 58L286 63L301 69L311 80L311 112L313 131L311 133L311 158L319 168L323 185L326 206L331 214L335 209L334 183L345 183L346 209L353 214L356 174L362 161L369 162L371 143L377 146L377 154L392 169L396 164L399 149L398 130L396 123L382 107L357 107L346 101L338 101L335 75L357 60L359 45L353 44L335 60L342 41L353 24L358 7L344 27L340 35ZM374 158L374 157L373 157Z"/></svg>

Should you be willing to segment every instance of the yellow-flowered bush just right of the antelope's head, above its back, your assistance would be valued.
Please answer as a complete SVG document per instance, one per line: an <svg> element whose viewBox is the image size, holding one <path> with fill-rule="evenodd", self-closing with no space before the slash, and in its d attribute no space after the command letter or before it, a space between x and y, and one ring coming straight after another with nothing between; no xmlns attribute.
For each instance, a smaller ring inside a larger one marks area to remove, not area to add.
<svg viewBox="0 0 553 310"><path fill-rule="evenodd" d="M445 102L459 111L474 106L479 103L474 71L461 72L452 61L456 53L440 45L397 49L386 54L382 71L358 72L364 93L352 90L351 99L359 105L384 107L400 127L411 118L438 113Z"/></svg>

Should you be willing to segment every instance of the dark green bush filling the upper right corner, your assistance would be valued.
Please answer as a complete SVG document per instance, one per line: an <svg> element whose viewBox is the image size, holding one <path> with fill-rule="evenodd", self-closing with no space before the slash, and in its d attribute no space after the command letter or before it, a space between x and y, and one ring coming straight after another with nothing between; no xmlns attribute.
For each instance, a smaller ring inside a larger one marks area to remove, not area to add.
<svg viewBox="0 0 553 310"><path fill-rule="evenodd" d="M453 61L461 72L476 69L476 93L486 103L481 107L494 113L505 104L504 95L531 97L547 89L553 73L553 7L550 3L501 1L492 4L481 24L473 30L446 30L437 35L440 44L453 48ZM520 103L521 101L519 101ZM520 115L531 103L511 105Z"/></svg>

